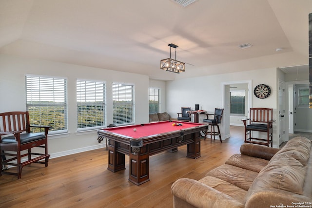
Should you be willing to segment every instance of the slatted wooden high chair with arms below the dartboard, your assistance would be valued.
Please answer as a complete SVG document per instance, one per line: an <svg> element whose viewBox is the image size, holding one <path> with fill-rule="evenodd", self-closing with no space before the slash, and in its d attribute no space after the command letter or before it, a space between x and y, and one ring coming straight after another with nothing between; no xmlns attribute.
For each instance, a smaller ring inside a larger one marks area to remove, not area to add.
<svg viewBox="0 0 312 208"><path fill-rule="evenodd" d="M273 109L251 108L250 118L242 119L245 126L245 143L273 147ZM254 137L253 132L266 132L266 138Z"/></svg>

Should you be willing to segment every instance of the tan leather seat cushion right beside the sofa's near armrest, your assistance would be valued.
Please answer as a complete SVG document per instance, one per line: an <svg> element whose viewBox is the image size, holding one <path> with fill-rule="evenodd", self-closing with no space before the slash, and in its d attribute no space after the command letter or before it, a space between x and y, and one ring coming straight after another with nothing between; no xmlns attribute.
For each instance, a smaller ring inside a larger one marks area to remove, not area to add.
<svg viewBox="0 0 312 208"><path fill-rule="evenodd" d="M239 203L243 203L244 197L247 193L244 189L240 189L227 181L212 176L205 176L200 179L199 182L231 196Z"/></svg>

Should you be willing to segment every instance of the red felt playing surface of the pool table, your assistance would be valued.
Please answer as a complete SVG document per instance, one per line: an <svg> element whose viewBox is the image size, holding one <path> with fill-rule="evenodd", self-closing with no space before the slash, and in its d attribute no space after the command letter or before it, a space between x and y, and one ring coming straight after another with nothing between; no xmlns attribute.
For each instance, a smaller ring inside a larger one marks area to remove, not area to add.
<svg viewBox="0 0 312 208"><path fill-rule="evenodd" d="M182 126L173 126L173 123L180 123ZM161 121L154 122L142 125L131 125L131 126L122 126L122 127L114 127L105 129L105 131L109 131L112 133L117 133L120 135L124 135L130 138L144 138L153 136L156 134L167 133L180 131L183 129L188 129L192 127L197 127L202 124L199 123L191 123L191 122L180 122L180 121ZM136 131L134 131L136 129Z"/></svg>

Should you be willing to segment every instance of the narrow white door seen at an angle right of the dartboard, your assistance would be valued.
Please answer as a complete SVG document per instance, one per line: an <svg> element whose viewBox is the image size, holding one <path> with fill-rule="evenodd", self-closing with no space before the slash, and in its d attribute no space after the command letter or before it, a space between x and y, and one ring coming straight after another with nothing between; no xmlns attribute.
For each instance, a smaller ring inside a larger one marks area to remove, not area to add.
<svg viewBox="0 0 312 208"><path fill-rule="evenodd" d="M278 139L279 143L282 144L285 141L285 83L282 80L278 81Z"/></svg>

